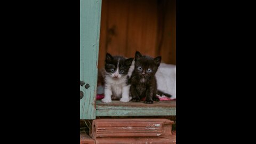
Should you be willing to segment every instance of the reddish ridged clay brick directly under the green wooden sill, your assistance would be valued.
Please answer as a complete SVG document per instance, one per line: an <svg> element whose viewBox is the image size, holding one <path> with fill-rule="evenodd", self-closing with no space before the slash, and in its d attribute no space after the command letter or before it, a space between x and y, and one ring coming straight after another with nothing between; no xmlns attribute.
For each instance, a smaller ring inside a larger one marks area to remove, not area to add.
<svg viewBox="0 0 256 144"><path fill-rule="evenodd" d="M172 135L174 122L165 118L104 118L92 122L91 137L161 137Z"/></svg>

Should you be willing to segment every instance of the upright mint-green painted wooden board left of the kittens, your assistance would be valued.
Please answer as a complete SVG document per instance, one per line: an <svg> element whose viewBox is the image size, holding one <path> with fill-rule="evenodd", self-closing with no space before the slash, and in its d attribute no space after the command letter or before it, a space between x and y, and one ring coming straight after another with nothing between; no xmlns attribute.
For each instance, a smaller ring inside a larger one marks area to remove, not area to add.
<svg viewBox="0 0 256 144"><path fill-rule="evenodd" d="M95 119L101 0L80 0L80 119Z"/></svg>

